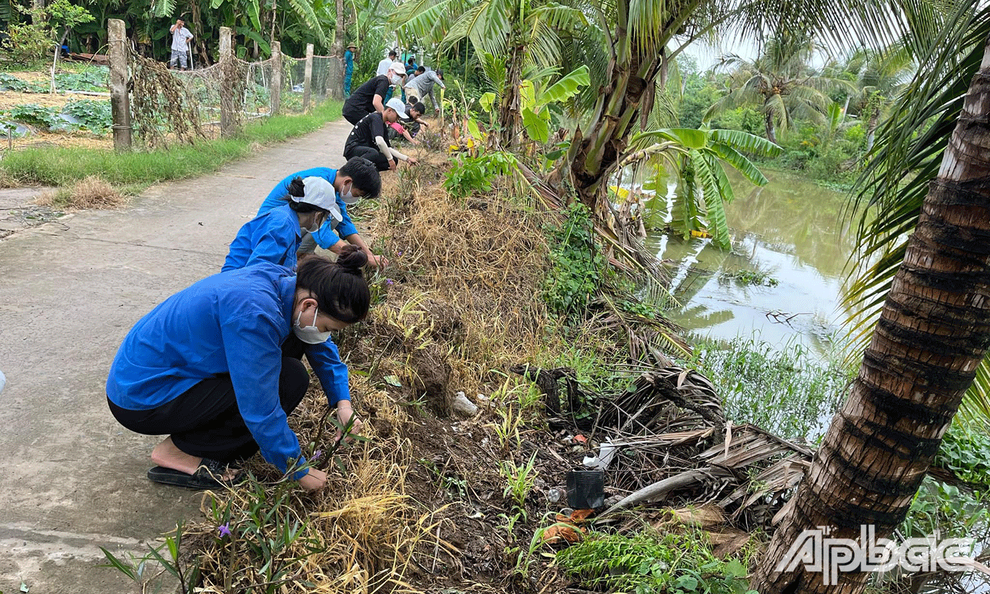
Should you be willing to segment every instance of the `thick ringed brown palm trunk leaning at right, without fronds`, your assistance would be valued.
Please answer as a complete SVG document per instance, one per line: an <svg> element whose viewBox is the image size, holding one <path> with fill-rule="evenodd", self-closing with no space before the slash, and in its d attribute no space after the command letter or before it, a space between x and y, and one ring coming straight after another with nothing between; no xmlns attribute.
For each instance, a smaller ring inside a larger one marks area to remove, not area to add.
<svg viewBox="0 0 990 594"><path fill-rule="evenodd" d="M826 585L802 564L822 559L791 548L816 527L832 527L829 539L859 541L869 525L891 534L990 346L990 42L980 70L848 400L753 576L761 594L864 589L869 573Z"/></svg>

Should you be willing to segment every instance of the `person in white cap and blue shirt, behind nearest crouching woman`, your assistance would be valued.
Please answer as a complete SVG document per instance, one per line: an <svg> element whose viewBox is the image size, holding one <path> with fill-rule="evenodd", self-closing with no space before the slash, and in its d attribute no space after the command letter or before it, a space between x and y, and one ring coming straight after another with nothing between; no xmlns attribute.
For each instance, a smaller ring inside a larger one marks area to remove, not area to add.
<svg viewBox="0 0 990 594"><path fill-rule="evenodd" d="M318 231L329 219L338 223L343 219L334 186L323 177L294 177L282 201L283 206L254 217L241 227L231 242L222 272L244 268L259 260L294 270L303 233Z"/></svg>

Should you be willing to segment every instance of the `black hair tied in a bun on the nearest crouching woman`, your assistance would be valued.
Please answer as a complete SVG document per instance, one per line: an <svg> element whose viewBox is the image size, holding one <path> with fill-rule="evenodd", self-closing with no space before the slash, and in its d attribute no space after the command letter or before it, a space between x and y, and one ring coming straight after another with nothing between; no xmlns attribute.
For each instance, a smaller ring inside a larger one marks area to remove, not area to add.
<svg viewBox="0 0 990 594"><path fill-rule="evenodd" d="M345 246L336 262L311 255L299 264L296 289L306 289L316 297L317 307L344 322L360 322L368 315L371 291L361 267L368 256L356 246Z"/></svg>

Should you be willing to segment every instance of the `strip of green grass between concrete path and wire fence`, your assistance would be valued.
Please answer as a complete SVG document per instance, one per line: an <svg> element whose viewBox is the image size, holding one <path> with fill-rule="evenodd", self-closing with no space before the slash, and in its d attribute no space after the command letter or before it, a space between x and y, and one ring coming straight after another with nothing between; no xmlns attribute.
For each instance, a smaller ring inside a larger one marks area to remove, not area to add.
<svg viewBox="0 0 990 594"><path fill-rule="evenodd" d="M99 175L125 193L148 184L193 177L250 154L254 143L279 142L317 130L341 115L342 104L327 101L311 113L274 116L249 123L236 139L202 141L194 146L117 153L92 148L27 148L0 161L7 183L63 186Z"/></svg>

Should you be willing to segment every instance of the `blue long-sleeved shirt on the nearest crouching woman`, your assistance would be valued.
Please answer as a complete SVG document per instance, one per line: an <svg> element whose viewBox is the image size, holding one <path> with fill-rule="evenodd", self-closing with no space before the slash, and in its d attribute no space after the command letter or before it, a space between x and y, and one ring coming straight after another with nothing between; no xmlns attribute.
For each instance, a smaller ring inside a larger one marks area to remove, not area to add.
<svg viewBox="0 0 990 594"><path fill-rule="evenodd" d="M295 292L292 271L265 261L179 291L128 333L110 367L107 397L121 408L149 410L229 373L261 455L285 471L301 455L278 399L281 345L292 332ZM305 351L331 406L350 400L347 365L333 341Z"/></svg>

